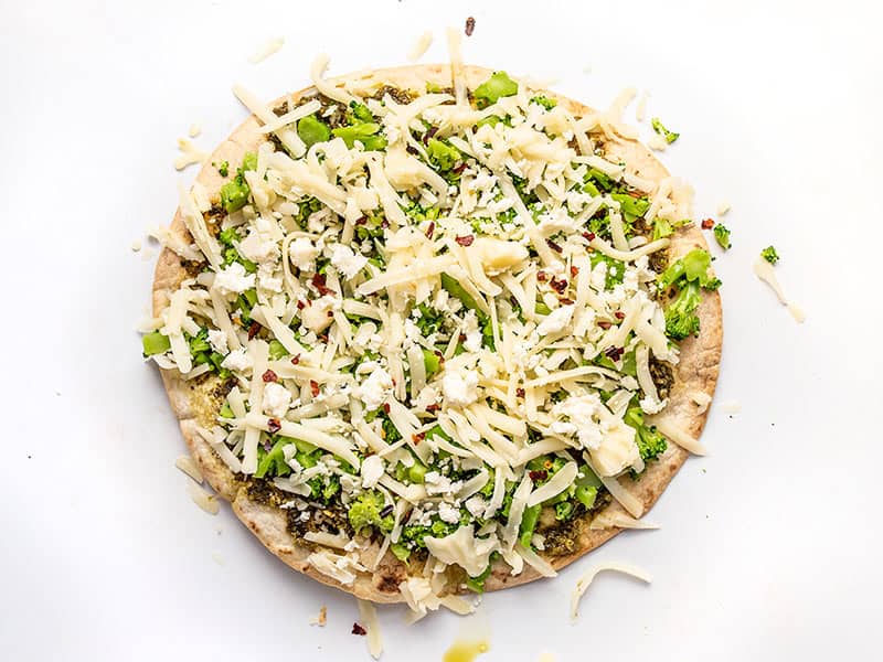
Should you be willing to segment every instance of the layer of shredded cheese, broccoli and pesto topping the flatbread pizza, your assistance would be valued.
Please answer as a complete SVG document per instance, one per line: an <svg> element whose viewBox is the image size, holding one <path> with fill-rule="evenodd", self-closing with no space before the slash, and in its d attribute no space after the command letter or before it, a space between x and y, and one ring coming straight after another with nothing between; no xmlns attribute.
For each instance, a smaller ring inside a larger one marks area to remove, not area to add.
<svg viewBox="0 0 883 662"><path fill-rule="evenodd" d="M504 72L459 99L319 83L183 196L194 268L143 353L221 380L200 434L341 584L369 545L476 591L499 557L549 574L667 449L648 417L720 285L704 250L667 259L689 191Z"/></svg>

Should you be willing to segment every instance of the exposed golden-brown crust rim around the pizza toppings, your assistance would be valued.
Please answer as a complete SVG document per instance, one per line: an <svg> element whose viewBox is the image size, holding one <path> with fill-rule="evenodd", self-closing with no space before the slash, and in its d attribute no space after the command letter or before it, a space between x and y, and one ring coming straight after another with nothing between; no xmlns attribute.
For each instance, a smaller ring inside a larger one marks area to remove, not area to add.
<svg viewBox="0 0 883 662"><path fill-rule="evenodd" d="M373 90L384 84L404 89L423 90L427 82L442 86L450 85L449 72L450 70L447 65L405 66L338 78L337 84L341 85L345 82L348 89L357 92ZM491 72L481 67L467 66L464 73L471 89L486 79ZM277 103L281 103L286 98L291 98L296 102L301 96L312 92L313 88L309 87L290 95L290 97L279 99ZM591 111L586 106L572 99L557 98L574 114L586 115ZM238 163L246 151L256 149L263 140L264 136L256 130L257 128L257 120L254 116L249 117L206 160L206 166L198 174L196 182L202 184L210 194L216 194L224 180L217 174L216 169L209 166L209 163L225 160L230 163ZM668 177L664 167L639 142L610 142L607 149L623 157L623 160L630 169L634 169L637 174L646 179L659 181ZM180 210L174 215L171 229L181 235L187 234ZM672 258L677 258L693 247L708 248L702 233L693 226L681 228L672 237L670 255ZM184 278L187 278L187 271L181 259L168 248L164 249L159 257L155 273L153 314L159 314L166 308L169 295ZM710 397L714 395L721 362L723 313L721 297L717 292L706 292L703 297L699 316L702 325L700 334L698 338L690 338L681 343L681 360L675 370L675 385L671 388L669 405L662 414L662 416L693 437L701 435L708 418L708 407L699 407L694 402L694 396L696 393L704 393ZM216 382L213 383L212 380L209 380L201 385L193 385L178 377L173 371L161 372L162 381L169 395L169 403L180 420L181 433L190 453L199 463L212 488L224 499L232 502L236 516L248 526L273 554L289 567L322 584L353 594L359 598L375 602L398 602L403 600L397 587L407 577L408 568L389 552L373 572L360 573L352 585L343 586L316 570L307 560L311 546L299 544L288 533L285 512L249 499L244 484L236 480L233 472L196 431L200 425L203 427L212 425L211 416L208 416L206 419L205 404L209 401L208 392ZM656 500L668 487L688 456L688 451L670 445L670 448L658 461L648 466L639 481L624 479L623 485L642 501L646 511L656 503ZM616 502L607 508L623 510ZM562 568L602 545L619 531L621 530L589 530L588 520L584 519L579 523L577 551L567 556L552 557L550 562L555 568ZM373 562L376 559L376 546L363 552L363 565L366 567L374 565ZM412 564L409 569L412 573L422 572L422 568L416 567L415 564ZM524 570L518 576L510 575L509 570L510 568L507 564L499 562L486 581L486 589L499 590L540 578L540 575L529 566L525 566Z"/></svg>

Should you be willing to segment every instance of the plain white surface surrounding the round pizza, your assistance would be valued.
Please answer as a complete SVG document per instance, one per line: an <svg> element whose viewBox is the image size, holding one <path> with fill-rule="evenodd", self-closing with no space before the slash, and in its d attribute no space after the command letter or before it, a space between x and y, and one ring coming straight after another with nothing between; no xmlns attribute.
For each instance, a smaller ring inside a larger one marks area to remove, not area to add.
<svg viewBox="0 0 883 662"><path fill-rule="evenodd" d="M289 572L227 509L211 517L188 499L172 466L183 446L134 331L152 260L129 246L170 221L177 183L192 180L172 169L175 139L200 122L210 149L245 116L234 81L264 98L300 88L321 51L337 73L402 64L425 29L437 36L424 61L443 61L440 30L469 14L469 62L554 76L596 106L625 85L651 92L650 115L682 134L663 160L695 185L696 216L733 204L735 247L716 261L726 342L711 455L647 516L661 530L489 595L472 619L408 629L383 609L384 660L439 660L462 628L489 637L488 661L874 656L877 3L0 4L0 660L366 659L349 596ZM283 51L248 64L277 35ZM768 244L804 325L752 275ZM602 559L655 580L602 576L572 626L570 591ZM310 627L321 605L328 626Z"/></svg>

